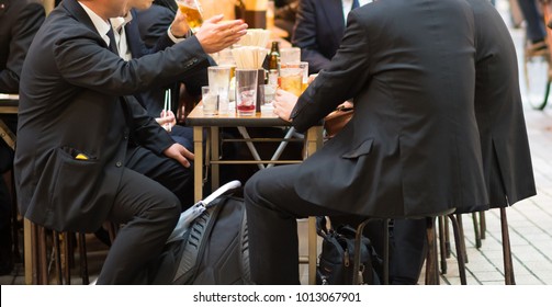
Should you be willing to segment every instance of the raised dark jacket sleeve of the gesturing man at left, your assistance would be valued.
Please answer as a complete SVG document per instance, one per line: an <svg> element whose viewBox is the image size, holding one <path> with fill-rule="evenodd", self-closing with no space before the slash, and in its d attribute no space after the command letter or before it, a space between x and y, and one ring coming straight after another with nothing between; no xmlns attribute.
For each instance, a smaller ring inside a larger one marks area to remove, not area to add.
<svg viewBox="0 0 552 307"><path fill-rule="evenodd" d="M102 47L105 42L95 32L59 31L66 33L53 52L60 76L77 87L116 96L159 88L209 64L209 56L194 36L162 53L125 61Z"/></svg>

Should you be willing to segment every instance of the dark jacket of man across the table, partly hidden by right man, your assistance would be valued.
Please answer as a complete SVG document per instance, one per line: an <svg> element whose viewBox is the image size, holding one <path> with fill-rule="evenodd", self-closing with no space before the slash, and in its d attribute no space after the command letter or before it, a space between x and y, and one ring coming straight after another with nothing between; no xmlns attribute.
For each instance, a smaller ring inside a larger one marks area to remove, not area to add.
<svg viewBox="0 0 552 307"><path fill-rule="evenodd" d="M301 0L292 44L301 48L301 59L308 61L311 73L329 66L343 37L341 0Z"/></svg>

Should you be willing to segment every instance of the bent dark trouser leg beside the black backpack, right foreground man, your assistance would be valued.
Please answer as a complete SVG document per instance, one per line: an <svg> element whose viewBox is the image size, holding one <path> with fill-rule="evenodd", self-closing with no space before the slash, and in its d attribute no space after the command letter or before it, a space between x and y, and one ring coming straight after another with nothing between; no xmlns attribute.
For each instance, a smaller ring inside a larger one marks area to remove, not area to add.
<svg viewBox="0 0 552 307"><path fill-rule="evenodd" d="M257 172L245 186L251 278L257 284L298 284L296 218L342 215L302 200L293 187L297 166Z"/></svg>

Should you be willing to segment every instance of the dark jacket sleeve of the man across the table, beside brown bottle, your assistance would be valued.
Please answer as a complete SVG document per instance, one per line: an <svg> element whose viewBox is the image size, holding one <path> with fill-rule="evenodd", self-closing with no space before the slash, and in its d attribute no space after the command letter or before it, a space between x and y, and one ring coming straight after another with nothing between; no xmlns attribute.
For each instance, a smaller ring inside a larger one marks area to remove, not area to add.
<svg viewBox="0 0 552 307"><path fill-rule="evenodd" d="M314 5L311 0L300 1L292 43L301 48L301 59L308 61L309 70L319 71L329 65L330 59L319 52Z"/></svg>

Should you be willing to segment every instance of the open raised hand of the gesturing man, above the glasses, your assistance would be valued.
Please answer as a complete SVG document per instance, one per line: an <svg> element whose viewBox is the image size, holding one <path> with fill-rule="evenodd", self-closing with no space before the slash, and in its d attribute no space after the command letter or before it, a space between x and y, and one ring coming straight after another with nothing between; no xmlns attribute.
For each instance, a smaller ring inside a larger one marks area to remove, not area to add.
<svg viewBox="0 0 552 307"><path fill-rule="evenodd" d="M223 18L221 14L205 20L195 33L195 37L207 54L218 53L238 43L247 33L247 23L243 20L221 22Z"/></svg>

